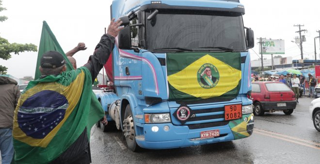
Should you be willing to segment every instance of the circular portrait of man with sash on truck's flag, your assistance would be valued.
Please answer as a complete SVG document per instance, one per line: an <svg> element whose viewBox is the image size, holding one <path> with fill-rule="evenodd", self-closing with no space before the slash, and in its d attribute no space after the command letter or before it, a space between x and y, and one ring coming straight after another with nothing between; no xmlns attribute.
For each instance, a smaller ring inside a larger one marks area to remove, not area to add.
<svg viewBox="0 0 320 164"><path fill-rule="evenodd" d="M200 67L197 72L197 78L202 88L213 88L219 82L219 71L210 63L206 63Z"/></svg>

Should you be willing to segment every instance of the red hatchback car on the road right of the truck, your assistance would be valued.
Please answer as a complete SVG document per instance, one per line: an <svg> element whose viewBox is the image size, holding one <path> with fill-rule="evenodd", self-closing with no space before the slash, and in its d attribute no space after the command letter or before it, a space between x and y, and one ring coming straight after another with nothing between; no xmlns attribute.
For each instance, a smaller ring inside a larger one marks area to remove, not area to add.
<svg viewBox="0 0 320 164"><path fill-rule="evenodd" d="M293 91L282 82L252 82L251 99L258 116L281 110L288 115L297 106Z"/></svg>

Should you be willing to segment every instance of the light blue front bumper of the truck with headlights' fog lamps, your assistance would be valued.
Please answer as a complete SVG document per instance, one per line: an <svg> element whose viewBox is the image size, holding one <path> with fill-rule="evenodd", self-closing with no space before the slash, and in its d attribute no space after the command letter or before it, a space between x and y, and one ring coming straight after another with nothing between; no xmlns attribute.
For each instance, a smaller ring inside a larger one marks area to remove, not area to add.
<svg viewBox="0 0 320 164"><path fill-rule="evenodd" d="M165 126L169 130L165 130ZM186 125L172 123L143 124L144 135L137 136L137 144L146 149L170 149L224 142L251 136L254 127L253 114L243 115L241 119L230 121L227 125L202 129L189 129ZM152 129L158 129L157 132ZM219 130L219 137L201 139L200 133Z"/></svg>

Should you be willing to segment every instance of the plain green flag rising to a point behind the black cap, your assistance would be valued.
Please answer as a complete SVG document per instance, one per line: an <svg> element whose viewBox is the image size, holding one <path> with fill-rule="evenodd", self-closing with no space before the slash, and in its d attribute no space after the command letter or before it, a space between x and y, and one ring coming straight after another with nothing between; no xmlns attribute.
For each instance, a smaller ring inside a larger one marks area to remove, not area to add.
<svg viewBox="0 0 320 164"><path fill-rule="evenodd" d="M67 70L73 69L72 65L70 64L68 58L64 54L64 51L62 50L59 42L57 41L56 37L52 33L47 22L43 21L40 44L39 44L38 59L37 59L37 65L35 67L34 79L39 79L39 77L41 76L41 73L39 70L40 59L41 59L42 55L44 53L46 53L47 51L57 51L60 54L62 54L64 56L64 60L66 61Z"/></svg>

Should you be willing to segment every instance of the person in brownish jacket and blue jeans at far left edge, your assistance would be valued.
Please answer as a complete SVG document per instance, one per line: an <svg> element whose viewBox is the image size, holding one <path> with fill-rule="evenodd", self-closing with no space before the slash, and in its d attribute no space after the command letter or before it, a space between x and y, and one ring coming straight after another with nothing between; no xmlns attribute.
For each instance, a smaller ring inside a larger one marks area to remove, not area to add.
<svg viewBox="0 0 320 164"><path fill-rule="evenodd" d="M12 128L16 104L20 96L18 83L0 76L0 151L2 164L10 164L13 154Z"/></svg>

